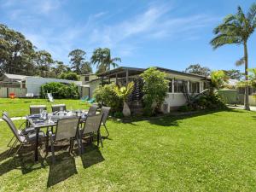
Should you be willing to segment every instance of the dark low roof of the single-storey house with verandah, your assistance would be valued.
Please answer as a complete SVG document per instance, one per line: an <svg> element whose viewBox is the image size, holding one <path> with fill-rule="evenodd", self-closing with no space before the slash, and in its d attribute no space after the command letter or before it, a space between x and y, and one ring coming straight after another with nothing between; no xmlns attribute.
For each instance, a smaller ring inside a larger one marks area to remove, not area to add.
<svg viewBox="0 0 256 192"><path fill-rule="evenodd" d="M172 69L167 69L163 67L156 67L158 70L166 73L172 73L172 74L177 74L177 75L183 75L187 77L193 77L193 78L198 78L198 79L207 79L207 77L202 76L202 75L197 75L197 74L192 74L192 73L184 73L184 72L179 72L175 71ZM118 77L125 77L125 72L128 71L129 75L135 75L135 74L140 74L143 73L145 70L148 68L137 68L137 67L118 67L115 69L112 69L108 72L105 73L100 73L97 76L98 77L114 77L116 74L118 74Z"/></svg>

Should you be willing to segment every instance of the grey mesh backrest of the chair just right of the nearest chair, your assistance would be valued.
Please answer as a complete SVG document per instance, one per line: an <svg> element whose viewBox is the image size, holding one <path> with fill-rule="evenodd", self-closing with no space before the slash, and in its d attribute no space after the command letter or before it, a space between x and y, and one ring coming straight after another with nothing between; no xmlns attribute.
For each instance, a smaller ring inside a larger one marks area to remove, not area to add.
<svg viewBox="0 0 256 192"><path fill-rule="evenodd" d="M85 122L83 133L96 132L100 130L102 124L102 114L88 116Z"/></svg>

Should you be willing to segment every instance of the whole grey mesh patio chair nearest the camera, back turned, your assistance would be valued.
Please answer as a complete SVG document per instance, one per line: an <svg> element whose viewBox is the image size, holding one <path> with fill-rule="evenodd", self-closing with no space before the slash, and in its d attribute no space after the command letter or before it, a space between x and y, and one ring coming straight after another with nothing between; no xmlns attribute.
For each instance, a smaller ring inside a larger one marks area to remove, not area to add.
<svg viewBox="0 0 256 192"><path fill-rule="evenodd" d="M55 147L54 147L55 143L65 139L69 139L69 142L70 142L69 153L71 153L73 150L73 142L75 138L77 139L77 142L79 145L79 134L77 134L79 129L79 120L80 119L78 117L67 117L64 119L58 119L57 125L55 128L55 133L53 133L52 131L49 131L48 142L50 142L53 163L55 163ZM79 153L80 153L80 145L79 145ZM47 148L47 154L48 154L48 148Z"/></svg>

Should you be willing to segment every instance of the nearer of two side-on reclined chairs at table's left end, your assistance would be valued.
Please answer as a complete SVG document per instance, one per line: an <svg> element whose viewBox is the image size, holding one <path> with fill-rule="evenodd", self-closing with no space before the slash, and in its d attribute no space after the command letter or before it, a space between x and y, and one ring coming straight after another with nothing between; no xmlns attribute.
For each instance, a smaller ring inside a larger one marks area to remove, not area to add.
<svg viewBox="0 0 256 192"><path fill-rule="evenodd" d="M36 142L37 131L32 130L32 131L27 131L26 132L26 131L18 130L16 128L14 122L12 121L12 119L9 118L7 113L3 113L3 120L9 125L9 128L14 133L15 138L16 138L15 143L13 143L12 145L9 146L10 149L9 149L9 153L7 154L8 156L12 153L12 151L16 147L17 143L20 143L20 147L15 152L15 155L20 151L20 148L24 144L32 144L32 143ZM39 131L39 133L38 133L39 140L42 140L44 137L45 137L44 132Z"/></svg>

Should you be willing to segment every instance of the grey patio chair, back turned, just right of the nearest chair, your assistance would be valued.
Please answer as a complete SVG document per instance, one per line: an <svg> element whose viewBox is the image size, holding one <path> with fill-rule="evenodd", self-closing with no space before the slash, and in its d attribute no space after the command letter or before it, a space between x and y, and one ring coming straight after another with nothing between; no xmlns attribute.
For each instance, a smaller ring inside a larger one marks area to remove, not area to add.
<svg viewBox="0 0 256 192"><path fill-rule="evenodd" d="M95 114L93 116L88 116L83 129L79 130L79 139L81 143L81 150L84 153L84 146L82 143L82 139L85 135L90 135L90 141L93 139L93 135L96 133L97 135L97 146L101 142L102 147L102 136L101 136L101 124L102 124L102 114Z"/></svg>

